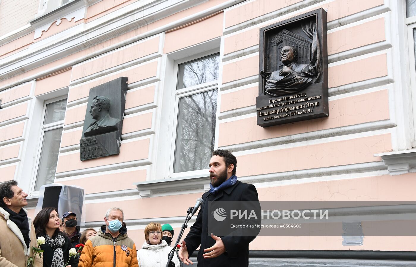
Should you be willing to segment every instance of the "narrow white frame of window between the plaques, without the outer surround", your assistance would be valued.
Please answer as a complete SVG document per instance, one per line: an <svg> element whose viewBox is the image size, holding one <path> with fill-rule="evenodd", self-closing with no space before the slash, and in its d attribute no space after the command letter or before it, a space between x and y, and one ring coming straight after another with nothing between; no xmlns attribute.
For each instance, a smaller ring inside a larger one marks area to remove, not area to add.
<svg viewBox="0 0 416 267"><path fill-rule="evenodd" d="M191 57L186 57L180 60L176 60L173 64L174 66L173 77L176 77L176 82L172 84L175 86L174 87L175 90L173 90L173 97L172 97L174 101L174 113L173 113L174 115L173 115L173 129L172 129L173 132L172 132L172 140L171 140L171 156L170 156L170 164L169 164L169 177L171 178L179 178L183 176L201 176L201 175L204 176L208 173L208 170L209 170L207 166L206 169L202 169L202 170L179 172L179 173L173 172L173 167L174 167L174 162L175 162L176 138L178 135L179 99L185 96L191 96L194 94L199 94L202 92L215 90L215 89L217 90L217 95L219 95L219 90L218 90L218 82L219 82L219 77L220 77L219 75L218 75L218 80L206 82L203 84L197 84L197 85L182 88L182 89L177 89L178 80L179 80L179 77L178 77L179 65L186 63L186 62L191 62L196 59L203 59L204 57L208 57L210 55L219 54L219 53L220 53L219 49L213 49L213 50L198 54L197 56L194 55ZM218 104L218 101L217 101L217 104ZM217 127L215 127L215 129L216 128ZM215 133L214 133L214 136L215 136Z"/></svg>

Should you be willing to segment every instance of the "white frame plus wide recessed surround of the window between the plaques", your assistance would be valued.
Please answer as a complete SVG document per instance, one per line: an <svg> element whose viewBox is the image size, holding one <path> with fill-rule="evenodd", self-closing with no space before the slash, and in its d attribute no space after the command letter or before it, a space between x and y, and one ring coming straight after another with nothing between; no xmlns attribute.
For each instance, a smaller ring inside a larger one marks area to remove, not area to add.
<svg viewBox="0 0 416 267"><path fill-rule="evenodd" d="M156 94L158 108L155 110L157 125L155 126L155 141L151 148L149 158L152 167L149 170L148 180L163 180L169 178L186 179L186 178L203 178L208 177L208 166L206 169L197 171L188 171L173 173L173 161L176 146L176 134L178 123L178 106L179 98L198 92L208 91L217 88L217 121L215 122L215 143L218 144L218 104L219 104L219 86L221 79L221 64L219 65L218 80L207 82L193 87L177 89L178 83L178 66L179 64L193 61L202 57L220 52L220 37L209 40L192 47L187 47L170 54L163 55L162 64L164 67L161 71L160 93ZM221 53L220 53L221 61Z"/></svg>

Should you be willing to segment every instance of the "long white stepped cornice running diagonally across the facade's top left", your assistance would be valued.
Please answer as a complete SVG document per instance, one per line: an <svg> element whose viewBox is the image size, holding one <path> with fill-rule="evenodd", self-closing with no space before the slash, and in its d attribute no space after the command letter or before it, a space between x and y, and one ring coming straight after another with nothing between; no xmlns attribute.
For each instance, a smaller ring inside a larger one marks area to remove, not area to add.
<svg viewBox="0 0 416 267"><path fill-rule="evenodd" d="M22 53L16 53L6 59L0 59L0 80L9 79L15 75L54 62L76 52L85 50L88 47L92 47L93 45L110 40L125 32L131 32L139 27L143 27L149 23L161 20L164 17L168 17L206 1L207 0L159 0L147 1L149 3L146 5L143 5L144 1L136 1L120 10L116 10L87 23L85 25L85 30L82 32L74 32L72 35L67 36L66 39L60 40L58 43L55 42L45 47L37 48L36 50L25 49ZM220 10L224 10L243 1L244 0L228 0L183 19L149 30L148 32L136 35L109 47L96 50L88 55L79 57L62 65L55 66L31 76L26 76L20 80L0 87L0 91L66 69L106 52L113 51L114 49L166 32L167 30L186 25L189 22L215 14Z"/></svg>

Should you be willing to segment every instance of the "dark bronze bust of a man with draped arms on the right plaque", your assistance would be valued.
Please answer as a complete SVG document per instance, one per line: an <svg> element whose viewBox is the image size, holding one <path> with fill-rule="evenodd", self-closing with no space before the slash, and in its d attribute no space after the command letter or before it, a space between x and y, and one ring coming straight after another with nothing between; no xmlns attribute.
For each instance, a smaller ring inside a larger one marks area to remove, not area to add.
<svg viewBox="0 0 416 267"><path fill-rule="evenodd" d="M265 92L271 96L282 96L305 89L314 81L314 72L308 64L298 64L295 47L287 45L280 51L283 68L272 73L260 72L265 78Z"/></svg>

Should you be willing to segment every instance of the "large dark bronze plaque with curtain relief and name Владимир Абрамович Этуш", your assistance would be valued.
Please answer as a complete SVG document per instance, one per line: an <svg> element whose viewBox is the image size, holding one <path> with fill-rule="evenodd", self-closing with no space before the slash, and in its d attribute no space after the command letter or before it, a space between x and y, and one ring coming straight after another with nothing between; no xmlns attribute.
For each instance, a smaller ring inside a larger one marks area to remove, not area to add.
<svg viewBox="0 0 416 267"><path fill-rule="evenodd" d="M327 13L318 9L260 29L257 124L328 116Z"/></svg>

